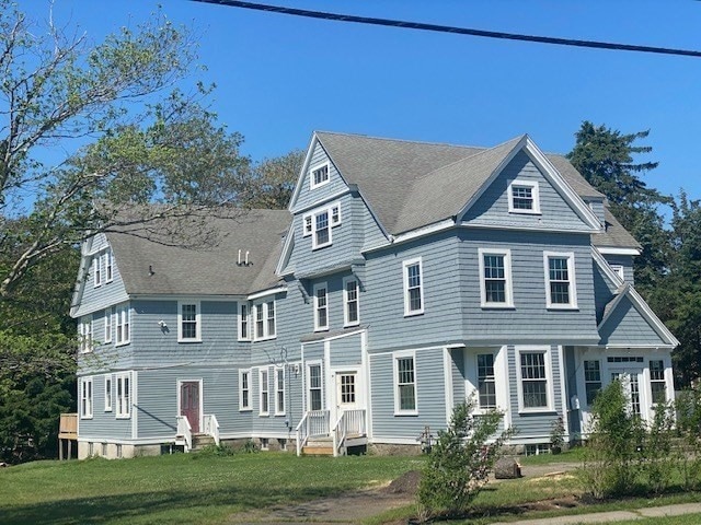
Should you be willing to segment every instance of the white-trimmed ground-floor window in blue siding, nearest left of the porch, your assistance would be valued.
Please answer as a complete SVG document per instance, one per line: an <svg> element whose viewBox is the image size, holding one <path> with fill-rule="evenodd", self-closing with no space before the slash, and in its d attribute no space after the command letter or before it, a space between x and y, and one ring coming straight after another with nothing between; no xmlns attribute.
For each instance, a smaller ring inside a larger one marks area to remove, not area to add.
<svg viewBox="0 0 701 525"><path fill-rule="evenodd" d="M550 349L524 347L516 350L518 363L519 406L522 411L552 409Z"/></svg>

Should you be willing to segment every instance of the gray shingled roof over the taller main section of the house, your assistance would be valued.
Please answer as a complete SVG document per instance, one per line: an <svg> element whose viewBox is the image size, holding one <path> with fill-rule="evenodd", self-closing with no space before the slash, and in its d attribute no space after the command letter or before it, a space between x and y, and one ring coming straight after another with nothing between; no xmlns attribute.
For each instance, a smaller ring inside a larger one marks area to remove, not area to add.
<svg viewBox="0 0 701 525"><path fill-rule="evenodd" d="M521 137L494 148L317 132L346 183L399 234L458 213ZM604 198L562 155L550 162L581 197Z"/></svg>

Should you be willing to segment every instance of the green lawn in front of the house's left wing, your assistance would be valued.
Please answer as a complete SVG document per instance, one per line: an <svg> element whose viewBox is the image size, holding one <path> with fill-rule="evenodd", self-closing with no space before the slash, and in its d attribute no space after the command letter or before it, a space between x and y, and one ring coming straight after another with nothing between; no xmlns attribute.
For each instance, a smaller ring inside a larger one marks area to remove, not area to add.
<svg viewBox="0 0 701 525"><path fill-rule="evenodd" d="M275 453L36 462L0 470L0 523L223 523L237 512L386 482L423 463Z"/></svg>

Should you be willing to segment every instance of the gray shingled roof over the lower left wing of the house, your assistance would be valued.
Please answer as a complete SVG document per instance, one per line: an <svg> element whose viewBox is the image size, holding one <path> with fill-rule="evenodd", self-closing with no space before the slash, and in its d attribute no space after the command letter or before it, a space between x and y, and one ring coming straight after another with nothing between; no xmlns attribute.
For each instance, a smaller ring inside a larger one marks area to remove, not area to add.
<svg viewBox="0 0 701 525"><path fill-rule="evenodd" d="M284 210L251 210L235 219L207 219L207 225L220 235L216 246L206 248L166 246L119 232L107 233L107 238L130 295L238 295L275 285L281 235L290 221ZM250 266L237 265L239 249L249 252Z"/></svg>

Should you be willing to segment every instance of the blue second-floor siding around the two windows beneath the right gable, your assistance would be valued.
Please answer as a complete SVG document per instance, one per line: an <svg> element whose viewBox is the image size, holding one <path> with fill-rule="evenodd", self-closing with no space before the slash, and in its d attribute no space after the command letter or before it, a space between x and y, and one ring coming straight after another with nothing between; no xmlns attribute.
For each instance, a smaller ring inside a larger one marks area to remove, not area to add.
<svg viewBox="0 0 701 525"><path fill-rule="evenodd" d="M460 238L460 296L467 339L598 341L588 235L464 229ZM514 308L480 306L479 248L510 249ZM576 310L547 307L543 252L574 253Z"/></svg>

